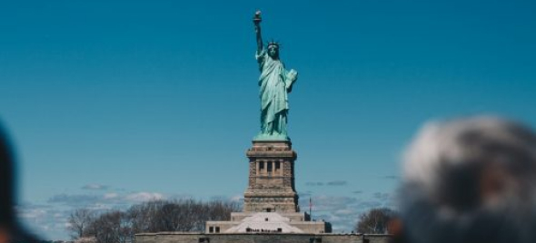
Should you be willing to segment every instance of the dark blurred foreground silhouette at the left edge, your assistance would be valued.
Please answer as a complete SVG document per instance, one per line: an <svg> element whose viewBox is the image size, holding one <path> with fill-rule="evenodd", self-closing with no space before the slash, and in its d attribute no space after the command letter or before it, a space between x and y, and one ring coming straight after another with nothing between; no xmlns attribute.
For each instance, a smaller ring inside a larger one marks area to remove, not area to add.
<svg viewBox="0 0 536 243"><path fill-rule="evenodd" d="M35 242L15 217L15 155L0 125L0 243Z"/></svg>

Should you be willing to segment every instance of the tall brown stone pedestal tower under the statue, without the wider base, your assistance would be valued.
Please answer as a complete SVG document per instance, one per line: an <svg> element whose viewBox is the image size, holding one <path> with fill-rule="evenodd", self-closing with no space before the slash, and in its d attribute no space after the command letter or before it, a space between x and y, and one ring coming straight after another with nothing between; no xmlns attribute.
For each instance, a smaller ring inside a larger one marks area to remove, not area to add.
<svg viewBox="0 0 536 243"><path fill-rule="evenodd" d="M249 158L249 184L243 212L298 212L294 189L296 152L291 141L253 141Z"/></svg>

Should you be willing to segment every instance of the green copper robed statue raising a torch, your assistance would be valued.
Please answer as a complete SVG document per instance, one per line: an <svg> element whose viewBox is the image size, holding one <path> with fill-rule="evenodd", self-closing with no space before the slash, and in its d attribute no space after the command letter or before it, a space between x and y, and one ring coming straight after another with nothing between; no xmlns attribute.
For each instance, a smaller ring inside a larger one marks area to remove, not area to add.
<svg viewBox="0 0 536 243"><path fill-rule="evenodd" d="M264 48L261 35L261 11L257 11L253 17L255 33L257 35L257 53L255 57L259 63L261 77L261 132L254 138L255 141L287 141L286 131L287 114L289 104L287 92L293 89L293 83L298 78L298 73L291 69L284 69L284 64L279 60L279 44L270 42Z"/></svg>

